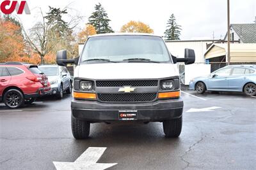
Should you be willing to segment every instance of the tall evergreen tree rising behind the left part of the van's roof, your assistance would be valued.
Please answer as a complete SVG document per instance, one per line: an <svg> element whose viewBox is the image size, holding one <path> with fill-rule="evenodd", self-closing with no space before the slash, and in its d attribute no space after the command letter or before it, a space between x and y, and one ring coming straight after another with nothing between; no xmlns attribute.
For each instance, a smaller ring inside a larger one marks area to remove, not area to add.
<svg viewBox="0 0 256 170"><path fill-rule="evenodd" d="M114 32L109 26L110 21L111 20L109 20L108 14L106 13L102 5L99 3L95 5L95 11L89 17L88 24L93 25L93 27L95 27L97 34L102 34Z"/></svg>

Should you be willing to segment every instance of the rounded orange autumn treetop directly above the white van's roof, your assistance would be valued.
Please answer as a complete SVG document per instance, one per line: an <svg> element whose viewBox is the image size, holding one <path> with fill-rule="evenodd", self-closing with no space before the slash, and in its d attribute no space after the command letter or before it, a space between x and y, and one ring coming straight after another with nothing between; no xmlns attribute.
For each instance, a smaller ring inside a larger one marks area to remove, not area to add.
<svg viewBox="0 0 256 170"><path fill-rule="evenodd" d="M151 29L147 24L143 22L136 22L131 20L127 24L121 27L121 32L143 32L143 33L154 33L153 29Z"/></svg>

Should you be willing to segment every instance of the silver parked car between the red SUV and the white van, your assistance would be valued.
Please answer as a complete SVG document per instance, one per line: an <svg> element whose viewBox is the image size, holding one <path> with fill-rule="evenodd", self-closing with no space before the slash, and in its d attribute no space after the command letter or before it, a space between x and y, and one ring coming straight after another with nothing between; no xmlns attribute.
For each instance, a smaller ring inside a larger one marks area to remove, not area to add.
<svg viewBox="0 0 256 170"><path fill-rule="evenodd" d="M63 97L63 92L71 94L72 92L72 80L67 67L58 65L42 65L39 69L47 75L51 84L52 95L58 99Z"/></svg>

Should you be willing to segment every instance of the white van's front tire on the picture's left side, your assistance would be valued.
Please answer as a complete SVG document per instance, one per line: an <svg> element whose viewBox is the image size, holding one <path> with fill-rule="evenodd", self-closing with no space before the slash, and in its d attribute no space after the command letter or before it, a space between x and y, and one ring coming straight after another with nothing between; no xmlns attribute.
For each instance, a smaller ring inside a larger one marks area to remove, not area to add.
<svg viewBox="0 0 256 170"><path fill-rule="evenodd" d="M76 139L86 139L90 134L90 123L71 117L72 134Z"/></svg>

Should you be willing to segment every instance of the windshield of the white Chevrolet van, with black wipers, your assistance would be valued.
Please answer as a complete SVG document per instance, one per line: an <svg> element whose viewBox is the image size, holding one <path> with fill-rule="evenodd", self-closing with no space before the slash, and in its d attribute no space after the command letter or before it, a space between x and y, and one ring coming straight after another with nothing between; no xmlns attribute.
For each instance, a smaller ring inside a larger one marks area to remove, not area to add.
<svg viewBox="0 0 256 170"><path fill-rule="evenodd" d="M98 36L89 38L81 64L99 62L172 62L157 36Z"/></svg>

